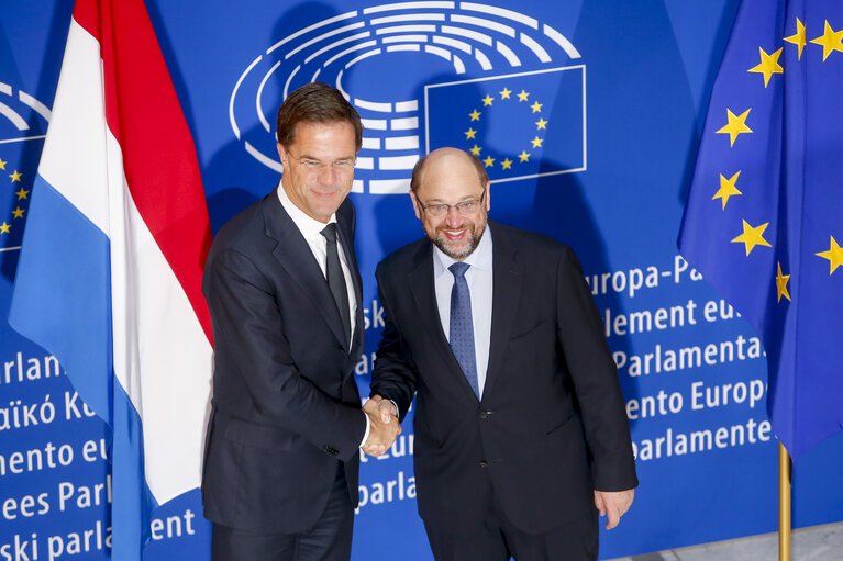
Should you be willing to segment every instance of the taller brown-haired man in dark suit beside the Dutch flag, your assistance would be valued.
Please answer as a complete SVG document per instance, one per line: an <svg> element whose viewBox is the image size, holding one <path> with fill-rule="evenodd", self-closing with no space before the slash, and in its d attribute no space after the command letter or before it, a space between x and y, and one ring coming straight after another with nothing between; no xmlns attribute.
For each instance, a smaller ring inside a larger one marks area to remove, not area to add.
<svg viewBox="0 0 843 561"><path fill-rule="evenodd" d="M202 290L214 374L202 501L214 560L347 560L358 447L400 430L361 397L355 214L362 126L324 83L278 111L280 184L218 233Z"/></svg>

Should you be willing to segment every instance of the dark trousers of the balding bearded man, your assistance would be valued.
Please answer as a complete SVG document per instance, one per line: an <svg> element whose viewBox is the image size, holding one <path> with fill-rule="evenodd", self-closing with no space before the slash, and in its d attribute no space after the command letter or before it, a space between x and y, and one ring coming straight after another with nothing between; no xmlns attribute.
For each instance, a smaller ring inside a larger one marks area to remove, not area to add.
<svg viewBox="0 0 843 561"><path fill-rule="evenodd" d="M564 508L564 506L559 506ZM424 523L436 561L595 561L598 551L597 508L546 534L526 534L507 519L495 501L481 527L467 535Z"/></svg>

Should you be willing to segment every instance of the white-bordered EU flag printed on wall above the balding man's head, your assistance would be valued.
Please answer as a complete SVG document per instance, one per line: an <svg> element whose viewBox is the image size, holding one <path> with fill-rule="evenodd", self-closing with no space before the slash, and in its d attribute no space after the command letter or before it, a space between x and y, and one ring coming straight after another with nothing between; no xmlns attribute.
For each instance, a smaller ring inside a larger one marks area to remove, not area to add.
<svg viewBox="0 0 843 561"><path fill-rule="evenodd" d="M470 152L492 182L586 169L586 67L425 86L426 153Z"/></svg>

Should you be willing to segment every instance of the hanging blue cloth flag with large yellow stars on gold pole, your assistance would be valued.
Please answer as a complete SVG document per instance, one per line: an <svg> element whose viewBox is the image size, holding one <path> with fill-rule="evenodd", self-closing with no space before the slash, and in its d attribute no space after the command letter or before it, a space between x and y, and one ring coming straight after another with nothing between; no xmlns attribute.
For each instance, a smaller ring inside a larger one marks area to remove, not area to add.
<svg viewBox="0 0 843 561"><path fill-rule="evenodd" d="M761 334L794 458L843 430L843 3L744 0L679 249Z"/></svg>

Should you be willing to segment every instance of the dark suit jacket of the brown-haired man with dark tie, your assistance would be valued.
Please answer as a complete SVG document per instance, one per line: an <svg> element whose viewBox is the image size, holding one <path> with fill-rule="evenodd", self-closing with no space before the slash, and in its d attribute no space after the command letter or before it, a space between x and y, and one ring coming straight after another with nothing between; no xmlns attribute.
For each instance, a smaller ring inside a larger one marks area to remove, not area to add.
<svg viewBox="0 0 843 561"><path fill-rule="evenodd" d="M326 504L337 460L357 504L366 420L353 375L363 306L351 201L336 218L358 303L351 348L328 282L275 190L211 246L202 292L213 325L213 409L202 501L218 524L307 529Z"/></svg>

